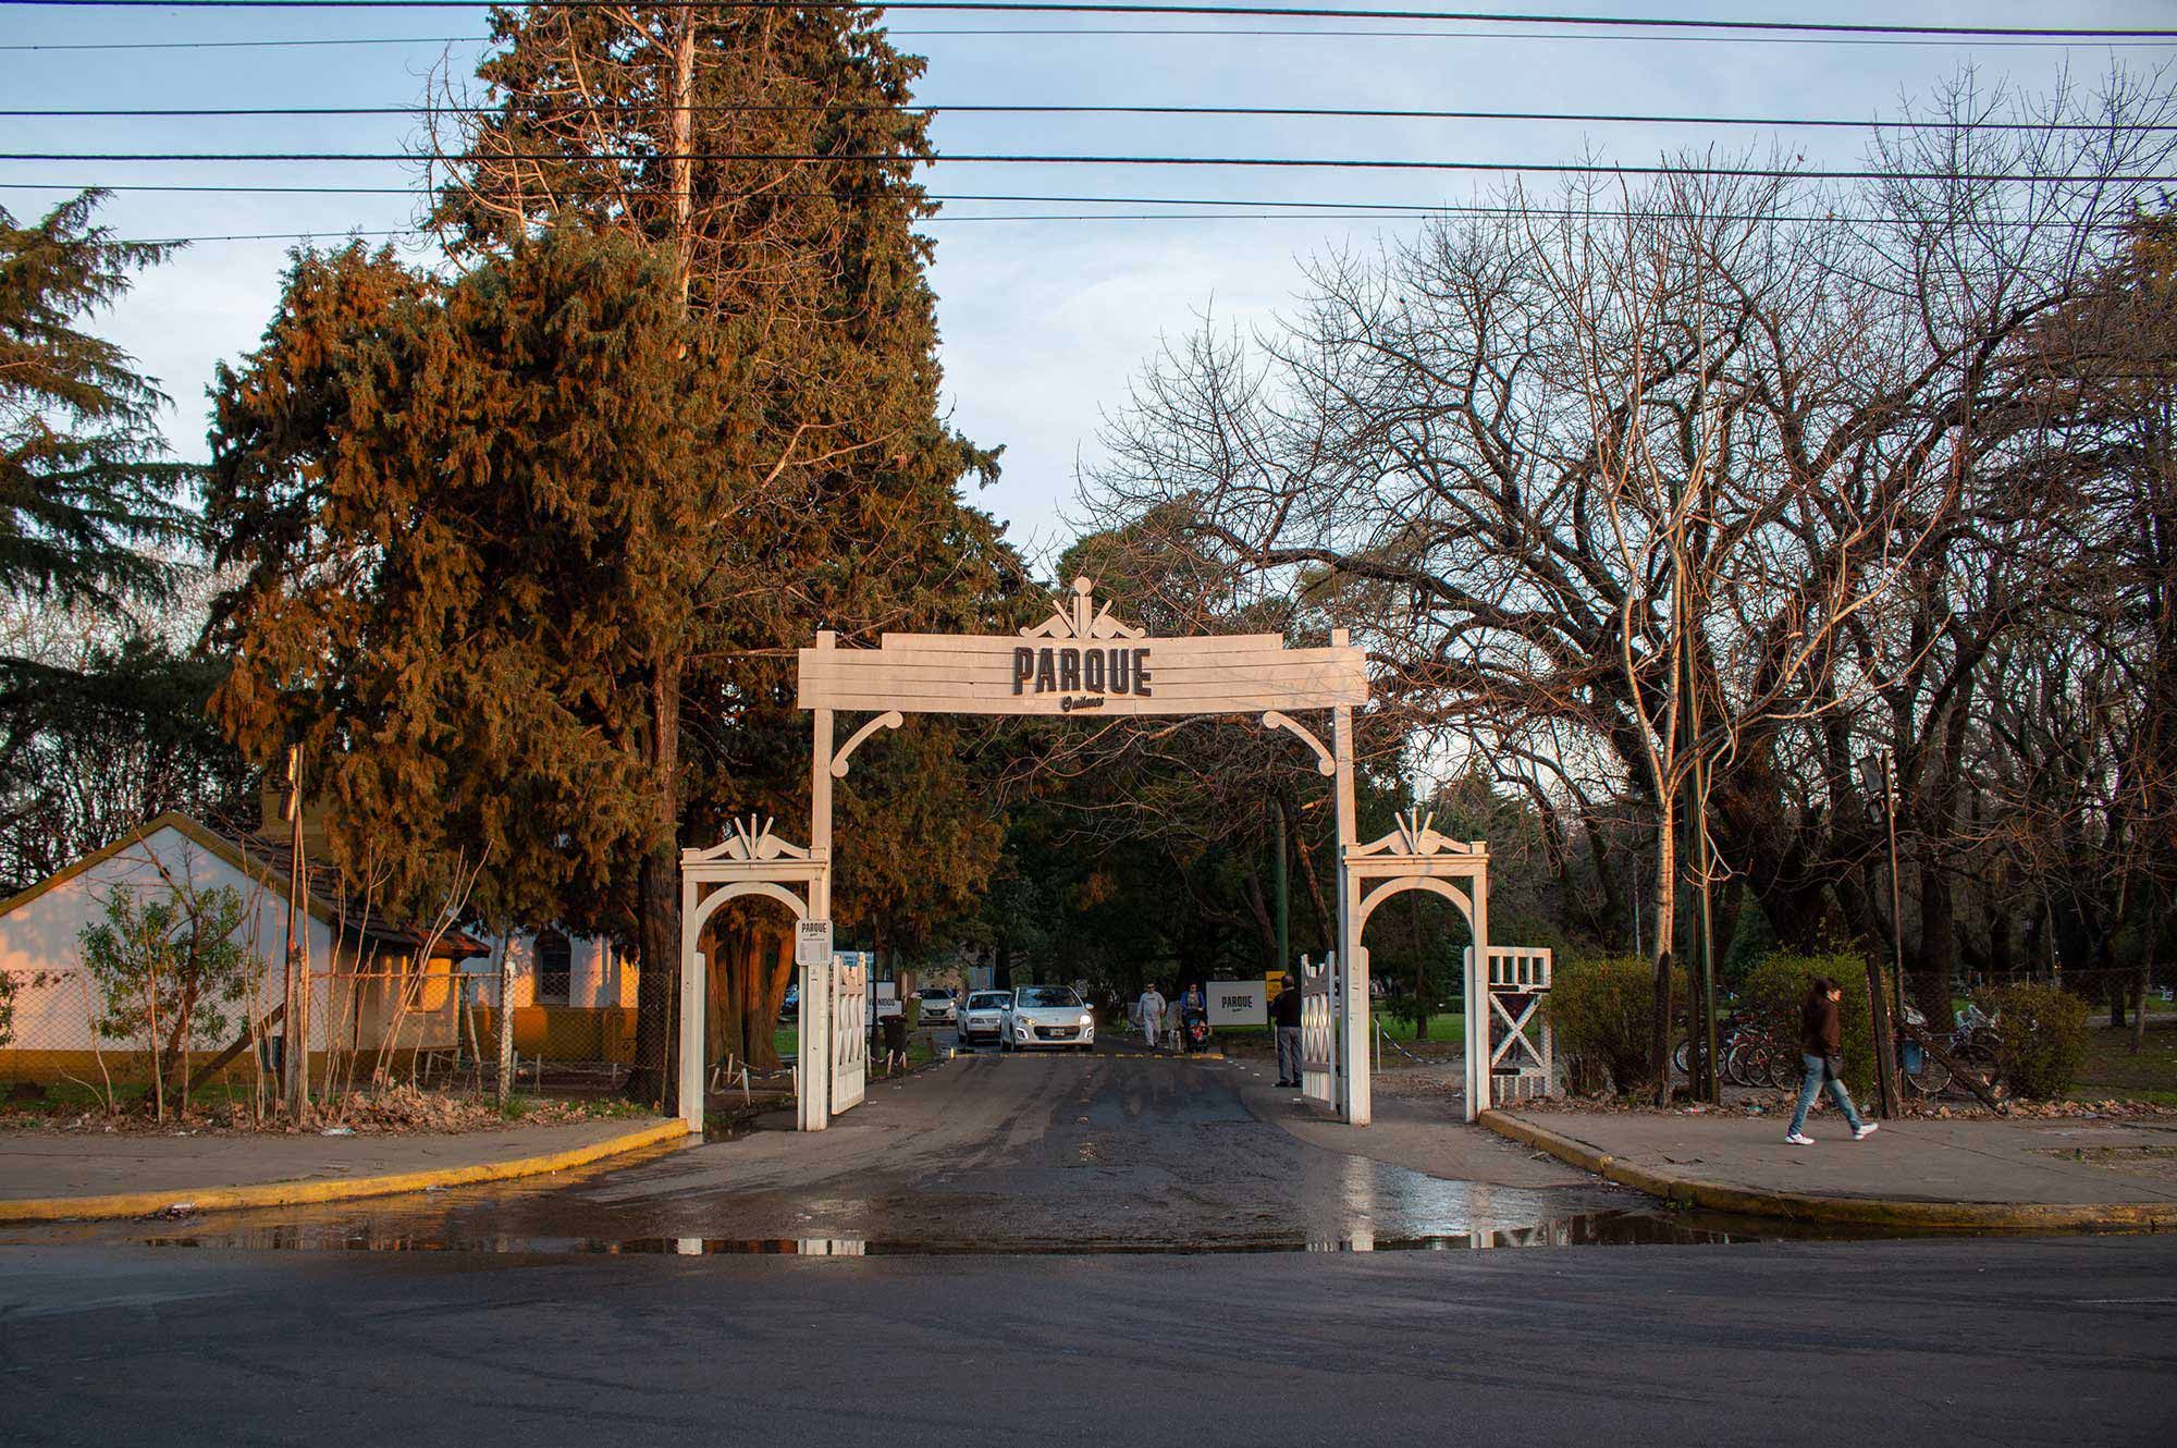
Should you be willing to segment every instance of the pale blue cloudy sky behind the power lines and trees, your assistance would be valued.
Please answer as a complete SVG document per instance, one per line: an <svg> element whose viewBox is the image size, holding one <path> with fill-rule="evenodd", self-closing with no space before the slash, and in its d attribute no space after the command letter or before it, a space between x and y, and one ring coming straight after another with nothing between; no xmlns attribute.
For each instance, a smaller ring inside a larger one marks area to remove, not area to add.
<svg viewBox="0 0 2177 1448"><path fill-rule="evenodd" d="M1345 0L1352 9L1430 9L1415 0ZM1491 2L1450 9L1552 9ZM2177 26L2177 0L1589 0L1594 15L1866 20L1970 26ZM991 15L899 11L901 50L927 57L930 105L1182 105L1731 115L1894 115L1901 100L1975 65L1985 78L2046 89L2068 65L2094 78L2120 61L2140 74L2177 46L2105 44L1776 44L1607 33L1594 26L1498 28L1472 22L1343 22ZM472 70L475 9L0 9L0 107L401 107L422 98L433 65ZM266 46L263 41L401 44ZM115 48L168 46L198 48ZM218 46L205 46L218 41ZM242 41L242 44L237 44ZM2177 76L2177 72L2168 72ZM0 118L0 152L364 150L403 152L416 120L279 118ZM1809 163L1859 159L1866 133L1759 126L1448 122L1321 118L938 115L940 152L1382 157L1567 161L1600 152L1655 161L1687 146L1768 150ZM385 196L192 196L122 192L102 211L128 237L235 237L414 226L416 172L403 163L0 161L0 207L30 218L85 185L344 185ZM1234 168L938 163L936 194L1380 203L1487 200L1504 176ZM1126 220L1145 211L1158 220ZM1071 538L1082 468L1099 427L1167 340L1204 316L1254 327L1302 290L1313 253L1395 244L1415 218L1254 207L956 200L930 222L943 329L945 403L980 444L1004 444L1004 477L973 501L1006 518L1030 557ZM1099 220L1082 220L1097 216ZM1019 220L1065 218L1065 220ZM174 398L168 431L202 459L205 388L220 361L257 344L279 300L290 240L205 240L146 272L98 318ZM418 259L427 253L411 250Z"/></svg>

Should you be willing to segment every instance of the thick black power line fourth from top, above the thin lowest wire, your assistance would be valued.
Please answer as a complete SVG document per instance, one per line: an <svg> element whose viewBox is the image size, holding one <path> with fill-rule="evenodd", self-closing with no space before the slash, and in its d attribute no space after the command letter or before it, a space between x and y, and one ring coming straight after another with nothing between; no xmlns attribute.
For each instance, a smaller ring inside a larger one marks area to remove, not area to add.
<svg viewBox="0 0 2177 1448"><path fill-rule="evenodd" d="M4 0L0 0L4 2ZM1415 172L1533 172L1548 176L1735 176L1746 181L1972 181L1972 183L2088 183L2107 181L2083 172L1883 172L1883 170L1789 170L1774 165L1615 165L1600 161L1413 161L1387 157L1143 157L1143 155L1010 155L960 152L912 157L897 152L647 152L594 150L568 157L551 150L509 150L490 157L420 157L401 150L0 150L0 161L120 161L120 163L468 163L468 161L710 161L710 163L775 163L775 165L1193 165L1252 170L1415 170ZM2168 183L2166 176L2125 176L2133 183Z"/></svg>

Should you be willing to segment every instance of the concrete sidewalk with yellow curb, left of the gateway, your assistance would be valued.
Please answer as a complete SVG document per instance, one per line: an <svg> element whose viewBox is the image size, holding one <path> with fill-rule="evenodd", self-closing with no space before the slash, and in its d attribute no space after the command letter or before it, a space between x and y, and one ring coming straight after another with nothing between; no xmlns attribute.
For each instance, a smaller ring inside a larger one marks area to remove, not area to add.
<svg viewBox="0 0 2177 1448"><path fill-rule="evenodd" d="M0 1222L283 1206L566 1171L686 1141L679 1121L575 1121L462 1134L233 1134L0 1130Z"/></svg>

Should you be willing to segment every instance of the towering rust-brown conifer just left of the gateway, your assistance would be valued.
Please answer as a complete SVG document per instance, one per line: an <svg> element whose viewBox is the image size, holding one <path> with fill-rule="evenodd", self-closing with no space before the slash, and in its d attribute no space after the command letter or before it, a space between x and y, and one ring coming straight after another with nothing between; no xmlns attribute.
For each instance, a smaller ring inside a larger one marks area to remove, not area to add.
<svg viewBox="0 0 2177 1448"><path fill-rule="evenodd" d="M805 808L792 647L977 625L1023 586L958 499L995 453L938 416L927 142L897 109L919 61L871 15L494 11L490 98L442 137L435 192L468 274L305 257L218 385L213 507L250 562L231 727L335 756L350 849L366 821L440 862L481 843L494 908L631 938L651 1100L679 845ZM488 314L501 294L525 300ZM594 590L610 608L553 623Z"/></svg>

